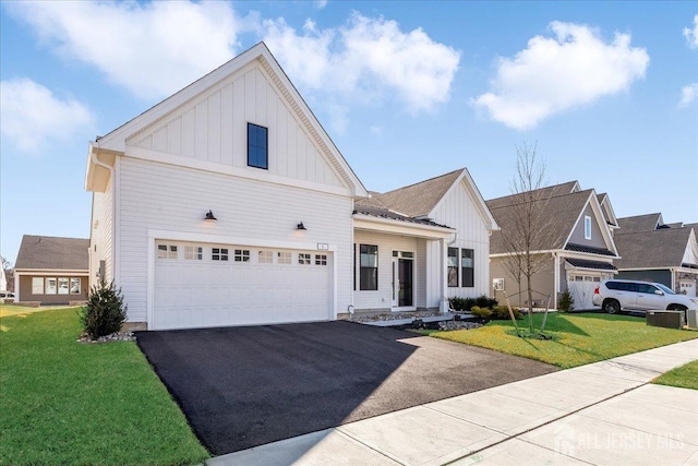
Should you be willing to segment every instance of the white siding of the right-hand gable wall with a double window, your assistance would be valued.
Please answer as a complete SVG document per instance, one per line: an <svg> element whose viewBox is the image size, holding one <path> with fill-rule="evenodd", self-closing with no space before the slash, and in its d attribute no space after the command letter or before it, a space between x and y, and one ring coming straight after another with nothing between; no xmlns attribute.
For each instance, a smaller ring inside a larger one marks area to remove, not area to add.
<svg viewBox="0 0 698 466"><path fill-rule="evenodd" d="M456 229L456 239L449 242L447 247L473 250L474 286L472 288L448 287L448 298L490 295L492 286L490 283L490 231L462 182L446 193L444 199L432 211L431 218L437 224L447 225ZM435 288L431 288L430 296L434 295L432 300L438 300L441 299L440 283L442 277L442 271L440 270L442 262L437 260L438 254L442 253L438 243L434 243L430 248L430 252L431 254L436 254L434 255L436 260L430 261L430 275L435 278L431 280L431 287Z"/></svg>

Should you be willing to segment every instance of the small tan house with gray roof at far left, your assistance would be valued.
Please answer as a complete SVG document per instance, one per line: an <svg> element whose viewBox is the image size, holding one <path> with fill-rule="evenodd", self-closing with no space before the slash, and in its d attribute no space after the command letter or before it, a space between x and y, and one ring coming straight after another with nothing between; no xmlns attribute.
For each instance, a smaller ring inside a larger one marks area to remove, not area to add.
<svg viewBox="0 0 698 466"><path fill-rule="evenodd" d="M16 302L69 304L89 290L89 240L24 235L14 264Z"/></svg>

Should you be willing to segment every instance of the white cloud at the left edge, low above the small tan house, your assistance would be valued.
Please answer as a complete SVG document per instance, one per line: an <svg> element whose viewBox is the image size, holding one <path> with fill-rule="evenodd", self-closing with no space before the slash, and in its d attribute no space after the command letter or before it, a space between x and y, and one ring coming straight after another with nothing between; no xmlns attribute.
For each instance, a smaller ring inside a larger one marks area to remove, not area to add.
<svg viewBox="0 0 698 466"><path fill-rule="evenodd" d="M74 99L56 97L28 79L0 82L2 136L20 151L38 153L56 141L67 141L94 123L89 109Z"/></svg>

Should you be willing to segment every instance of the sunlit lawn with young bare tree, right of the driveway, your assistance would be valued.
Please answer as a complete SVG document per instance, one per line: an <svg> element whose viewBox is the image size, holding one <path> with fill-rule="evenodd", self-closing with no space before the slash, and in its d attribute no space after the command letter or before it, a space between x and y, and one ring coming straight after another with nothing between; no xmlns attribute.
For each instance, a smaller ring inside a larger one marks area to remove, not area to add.
<svg viewBox="0 0 698 466"><path fill-rule="evenodd" d="M541 320L541 314L534 315L538 328ZM528 328L528 316L518 322L519 327ZM554 335L554 340L527 339L506 333L513 328L512 321L492 321L477 330L426 333L561 368L573 368L698 337L698 332L648 326L642 318L593 313L550 313L545 330Z"/></svg>

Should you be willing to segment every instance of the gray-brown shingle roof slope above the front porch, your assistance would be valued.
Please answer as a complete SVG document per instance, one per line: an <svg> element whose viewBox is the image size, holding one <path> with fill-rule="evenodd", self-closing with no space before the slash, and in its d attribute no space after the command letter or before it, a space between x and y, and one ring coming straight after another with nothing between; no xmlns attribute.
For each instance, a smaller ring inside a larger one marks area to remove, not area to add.
<svg viewBox="0 0 698 466"><path fill-rule="evenodd" d="M390 211L399 212L408 217L423 217L433 211L436 204L438 204L438 201L446 194L446 191L448 191L465 170L465 168L460 168L449 174L383 194L374 194L374 198L377 198L377 201L380 201L384 207ZM357 204L363 205L363 203L364 201L362 200Z"/></svg>

